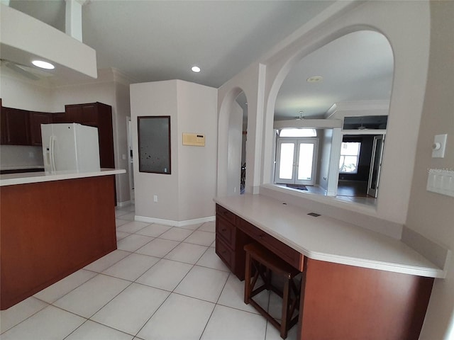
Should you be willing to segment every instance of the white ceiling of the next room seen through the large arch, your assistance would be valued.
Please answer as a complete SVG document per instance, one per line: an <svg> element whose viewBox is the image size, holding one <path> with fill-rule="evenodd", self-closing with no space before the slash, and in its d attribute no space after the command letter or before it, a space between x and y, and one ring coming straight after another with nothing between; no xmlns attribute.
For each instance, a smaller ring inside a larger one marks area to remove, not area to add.
<svg viewBox="0 0 454 340"><path fill-rule="evenodd" d="M394 58L381 33L344 35L304 57L279 89L275 120L302 116L323 118L333 103L389 101ZM321 76L316 83L306 81Z"/></svg>

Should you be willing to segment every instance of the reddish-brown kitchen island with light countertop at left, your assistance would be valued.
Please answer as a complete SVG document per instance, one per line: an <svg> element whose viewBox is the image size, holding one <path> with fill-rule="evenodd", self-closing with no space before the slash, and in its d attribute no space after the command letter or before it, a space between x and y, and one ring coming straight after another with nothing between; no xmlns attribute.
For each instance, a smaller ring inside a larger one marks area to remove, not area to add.
<svg viewBox="0 0 454 340"><path fill-rule="evenodd" d="M114 175L125 170L0 176L0 309L116 249Z"/></svg>

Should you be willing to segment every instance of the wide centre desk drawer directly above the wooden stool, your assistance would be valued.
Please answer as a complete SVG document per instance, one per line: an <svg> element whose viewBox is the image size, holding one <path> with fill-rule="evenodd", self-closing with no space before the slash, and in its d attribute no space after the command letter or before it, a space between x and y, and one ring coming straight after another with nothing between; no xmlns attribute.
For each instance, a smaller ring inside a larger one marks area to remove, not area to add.
<svg viewBox="0 0 454 340"><path fill-rule="evenodd" d="M255 225L251 225L249 222L240 219L239 217L238 228L245 232L245 234L248 234L250 237L255 239L255 241L266 246L267 249L270 249L270 251L275 253L284 261L287 261L289 264L294 266L294 268L297 268L299 271L303 271L304 256L295 249L287 246L287 244L280 242L279 239L275 239L270 234L267 234L258 227L255 227Z"/></svg>

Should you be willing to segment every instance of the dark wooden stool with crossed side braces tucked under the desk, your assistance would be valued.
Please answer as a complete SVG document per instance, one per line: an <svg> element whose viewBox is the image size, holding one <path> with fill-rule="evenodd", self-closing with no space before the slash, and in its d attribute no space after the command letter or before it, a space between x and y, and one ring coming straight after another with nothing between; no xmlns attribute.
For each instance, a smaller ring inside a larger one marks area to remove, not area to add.
<svg viewBox="0 0 454 340"><path fill-rule="evenodd" d="M294 278L301 272L258 243L246 244L244 250L246 252L244 302L246 305L249 303L253 305L260 314L279 329L281 338L285 339L289 329L298 322L298 314L293 318L292 315L299 308L301 286L295 284ZM272 284L273 274L284 279L283 290ZM264 283L255 288L259 277ZM282 297L282 321L280 323L253 300L253 296L265 289Z"/></svg>

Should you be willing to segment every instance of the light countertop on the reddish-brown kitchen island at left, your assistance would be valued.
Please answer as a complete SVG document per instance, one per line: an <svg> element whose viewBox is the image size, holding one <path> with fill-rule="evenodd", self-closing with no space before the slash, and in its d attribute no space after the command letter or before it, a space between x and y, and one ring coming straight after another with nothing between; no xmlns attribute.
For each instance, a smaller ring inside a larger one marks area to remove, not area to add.
<svg viewBox="0 0 454 340"><path fill-rule="evenodd" d="M125 174L124 169L101 169L100 171L74 172L74 171L55 171L55 172L26 172L19 174L0 175L0 186L13 186L16 184L39 183L48 181L62 181L65 179L82 179L84 177L108 176Z"/></svg>

